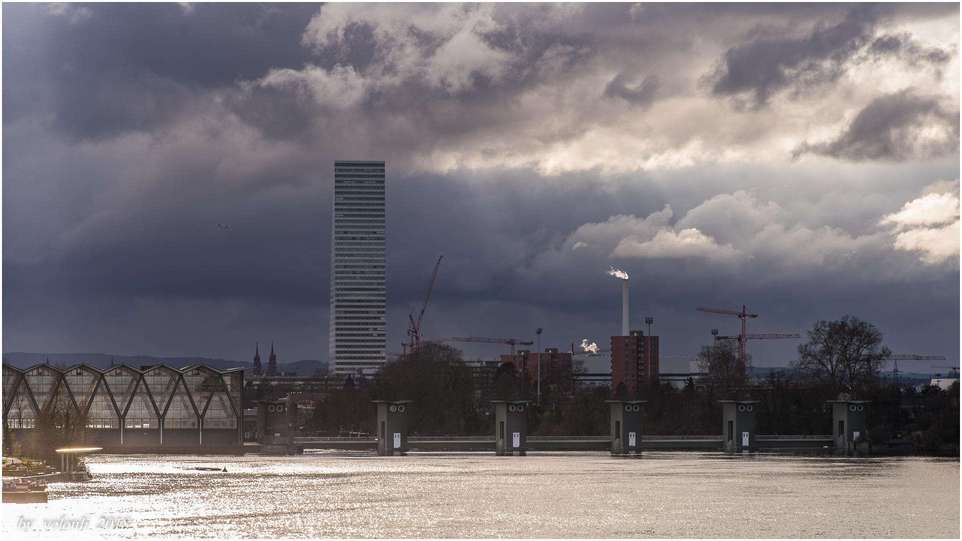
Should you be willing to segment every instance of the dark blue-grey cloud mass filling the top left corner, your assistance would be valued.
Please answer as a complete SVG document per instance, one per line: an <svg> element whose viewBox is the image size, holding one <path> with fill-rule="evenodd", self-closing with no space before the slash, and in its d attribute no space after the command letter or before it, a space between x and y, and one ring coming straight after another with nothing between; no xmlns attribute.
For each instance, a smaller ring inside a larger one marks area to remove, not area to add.
<svg viewBox="0 0 962 541"><path fill-rule="evenodd" d="M52 107L54 125L76 140L150 132L169 125L196 90L232 88L269 67L300 66L300 33L311 4L92 4L83 20L49 9L3 10L4 121ZM14 22L15 21L15 22ZM39 66L39 69L38 69ZM38 100L53 82L52 103Z"/></svg>

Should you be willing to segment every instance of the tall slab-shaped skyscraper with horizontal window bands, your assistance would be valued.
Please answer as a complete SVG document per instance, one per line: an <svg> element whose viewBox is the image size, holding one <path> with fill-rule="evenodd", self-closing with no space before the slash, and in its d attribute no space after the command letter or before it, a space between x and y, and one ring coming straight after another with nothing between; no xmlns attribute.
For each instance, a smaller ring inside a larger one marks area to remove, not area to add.
<svg viewBox="0 0 962 541"><path fill-rule="evenodd" d="M384 162L334 163L331 331L334 374L386 362Z"/></svg>

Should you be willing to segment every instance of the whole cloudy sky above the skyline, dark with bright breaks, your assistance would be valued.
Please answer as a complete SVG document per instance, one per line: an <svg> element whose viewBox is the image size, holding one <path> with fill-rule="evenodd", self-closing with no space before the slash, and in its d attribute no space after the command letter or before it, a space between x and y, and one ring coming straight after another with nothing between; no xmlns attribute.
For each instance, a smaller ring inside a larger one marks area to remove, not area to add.
<svg viewBox="0 0 962 541"><path fill-rule="evenodd" d="M663 355L746 304L957 365L958 10L5 3L3 350L327 360L333 162L366 159L389 350L443 255L425 338L609 347L615 267Z"/></svg>

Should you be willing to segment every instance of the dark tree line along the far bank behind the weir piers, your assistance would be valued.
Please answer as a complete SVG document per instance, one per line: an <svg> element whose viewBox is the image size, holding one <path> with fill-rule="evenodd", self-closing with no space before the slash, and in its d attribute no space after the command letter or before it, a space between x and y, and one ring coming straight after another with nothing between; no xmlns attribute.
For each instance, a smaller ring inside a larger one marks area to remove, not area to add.
<svg viewBox="0 0 962 541"><path fill-rule="evenodd" d="M647 434L717 435L722 432L722 399L759 400L759 434L832 433L827 400L866 399L868 438L875 444L911 441L925 451L958 451L959 389L949 391L887 382L879 377L891 350L870 322L852 316L816 322L797 347L789 370L772 370L749 378L741 370L734 341L702 346L697 362L704 377L689 378L679 389L659 382L629 394L588 388L577 381L577 367L564 381L542 381L542 403L528 408L528 435L602 436L609 430L605 400L647 400ZM747 355L745 365L751 367ZM370 380L351 381L316 404L308 430L335 436L373 433L372 400L411 399L412 434L494 434L494 399L536 398L536 382L512 363L502 364L487 381L479 381L460 350L443 344L421 345L388 363Z"/></svg>

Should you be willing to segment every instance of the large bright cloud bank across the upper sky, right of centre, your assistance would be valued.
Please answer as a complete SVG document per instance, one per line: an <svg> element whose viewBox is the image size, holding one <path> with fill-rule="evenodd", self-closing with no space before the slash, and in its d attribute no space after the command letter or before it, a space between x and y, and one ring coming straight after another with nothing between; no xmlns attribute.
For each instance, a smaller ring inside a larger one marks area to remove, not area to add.
<svg viewBox="0 0 962 541"><path fill-rule="evenodd" d="M571 4L326 4L302 43L340 64L275 69L257 83L323 106L376 105L379 122L338 131L351 141L406 142L407 170L532 167L543 175L783 164L799 142L836 137L880 91L916 87L958 102L951 77L932 80L886 58L847 66L817 92L776 93L764 108L736 110L698 81L734 44L772 25L769 15L720 15L706 27L687 16L660 20L655 7L612 9L632 24L601 28L582 14L592 8ZM807 16L799 29L816 24ZM956 66L954 56L942 69ZM606 97L619 77L652 77L658 90L646 107ZM880 90L892 80L898 89Z"/></svg>

